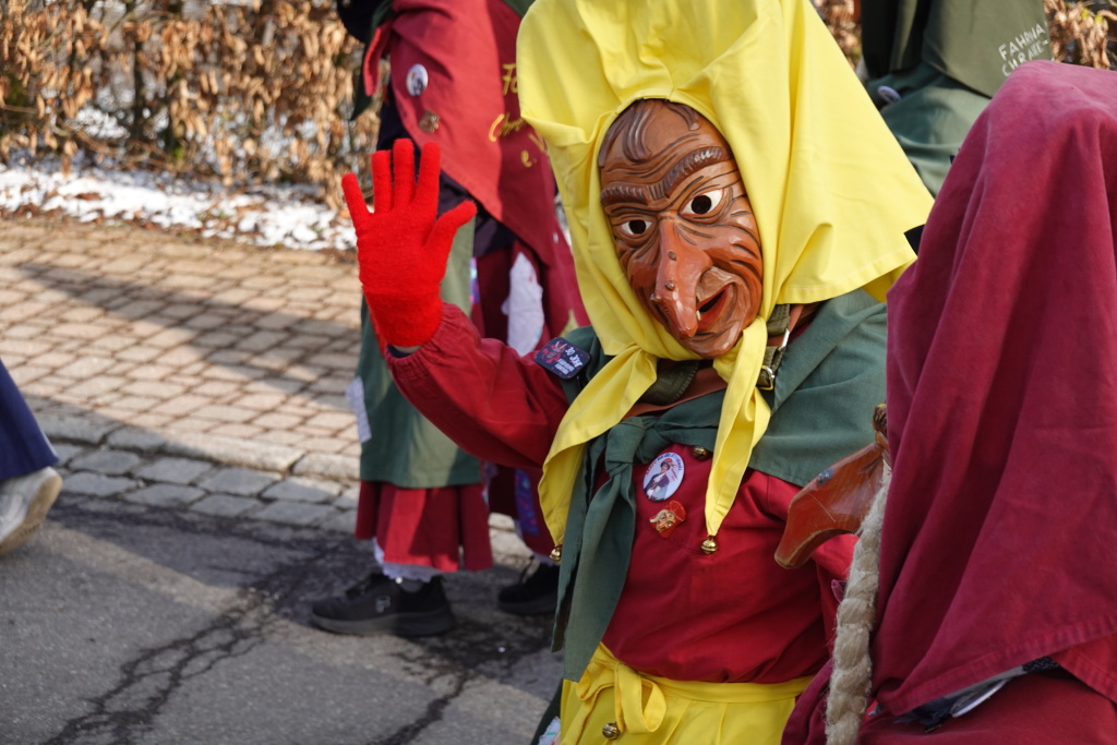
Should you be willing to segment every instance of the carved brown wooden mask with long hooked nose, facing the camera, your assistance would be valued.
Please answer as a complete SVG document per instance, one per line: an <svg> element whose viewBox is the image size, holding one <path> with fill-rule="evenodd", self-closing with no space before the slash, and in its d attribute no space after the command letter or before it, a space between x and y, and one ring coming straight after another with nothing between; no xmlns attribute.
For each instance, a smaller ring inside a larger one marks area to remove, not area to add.
<svg viewBox="0 0 1117 745"><path fill-rule="evenodd" d="M652 318L716 357L760 311L760 233L728 143L689 106L645 99L610 127L601 206L621 267Z"/></svg>

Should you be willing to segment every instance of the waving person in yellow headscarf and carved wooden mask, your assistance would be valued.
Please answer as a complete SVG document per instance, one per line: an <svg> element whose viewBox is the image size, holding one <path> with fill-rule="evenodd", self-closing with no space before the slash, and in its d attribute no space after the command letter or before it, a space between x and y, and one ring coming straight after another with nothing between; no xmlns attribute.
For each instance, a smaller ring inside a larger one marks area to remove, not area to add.
<svg viewBox="0 0 1117 745"><path fill-rule="evenodd" d="M932 198L809 0L537 0L517 47L592 325L522 355L442 303L474 208L439 218L437 144L417 181L399 141L375 212L343 181L393 380L543 469L565 680L538 743L772 745L851 541L773 553L799 488L873 438L881 299Z"/></svg>

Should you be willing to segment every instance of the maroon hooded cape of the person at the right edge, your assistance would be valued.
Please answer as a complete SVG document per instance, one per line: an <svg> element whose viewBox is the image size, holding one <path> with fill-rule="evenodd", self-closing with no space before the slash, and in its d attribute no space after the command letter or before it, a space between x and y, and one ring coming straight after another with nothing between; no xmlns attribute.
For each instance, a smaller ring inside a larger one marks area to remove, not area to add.
<svg viewBox="0 0 1117 745"><path fill-rule="evenodd" d="M1042 657L1063 677L1009 682L936 742L1117 742L1115 235L1117 74L1021 66L888 295L881 713L862 743L923 736L896 715ZM823 742L820 689L785 745Z"/></svg>

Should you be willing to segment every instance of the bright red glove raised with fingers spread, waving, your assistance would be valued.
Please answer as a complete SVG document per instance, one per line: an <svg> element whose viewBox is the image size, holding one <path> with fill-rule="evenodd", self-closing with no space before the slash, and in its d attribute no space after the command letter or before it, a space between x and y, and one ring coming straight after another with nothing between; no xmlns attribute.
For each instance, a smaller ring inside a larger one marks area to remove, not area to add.
<svg viewBox="0 0 1117 745"><path fill-rule="evenodd" d="M356 229L361 288L383 344L418 346L435 335L442 319L439 285L454 236L477 213L477 206L466 201L437 217L440 161L436 143L423 145L417 184L410 140L397 140L391 153L373 153L375 212L365 206L356 176L342 176Z"/></svg>

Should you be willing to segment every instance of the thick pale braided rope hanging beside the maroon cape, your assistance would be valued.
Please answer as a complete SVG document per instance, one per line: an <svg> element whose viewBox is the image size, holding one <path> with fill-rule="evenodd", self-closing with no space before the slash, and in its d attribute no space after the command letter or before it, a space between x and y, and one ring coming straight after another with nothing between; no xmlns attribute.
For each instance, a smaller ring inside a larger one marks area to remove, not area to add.
<svg viewBox="0 0 1117 745"><path fill-rule="evenodd" d="M869 641L877 620L877 590L880 586L880 526L892 469L885 464L880 490L872 500L853 550L853 564L846 595L838 606L833 672L827 700L827 744L856 745L872 682Z"/></svg>

